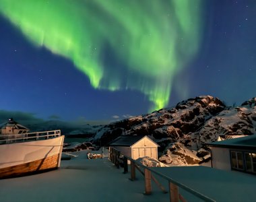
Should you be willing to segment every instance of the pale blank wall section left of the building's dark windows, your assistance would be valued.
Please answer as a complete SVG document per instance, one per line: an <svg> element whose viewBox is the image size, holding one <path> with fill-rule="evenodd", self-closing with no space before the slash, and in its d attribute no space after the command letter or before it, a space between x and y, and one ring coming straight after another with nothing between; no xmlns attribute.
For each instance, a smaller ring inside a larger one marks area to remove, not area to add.
<svg viewBox="0 0 256 202"><path fill-rule="evenodd" d="M211 147L212 167L222 170L231 170L230 151L228 148Z"/></svg>

